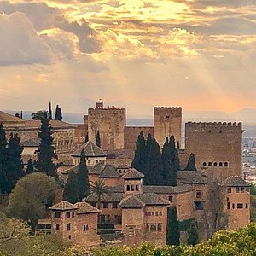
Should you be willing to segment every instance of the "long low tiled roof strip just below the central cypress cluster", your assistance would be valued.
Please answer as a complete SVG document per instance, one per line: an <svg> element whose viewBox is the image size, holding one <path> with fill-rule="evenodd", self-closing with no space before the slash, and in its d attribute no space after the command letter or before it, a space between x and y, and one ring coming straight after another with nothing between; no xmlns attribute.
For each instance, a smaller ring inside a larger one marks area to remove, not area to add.
<svg viewBox="0 0 256 256"><path fill-rule="evenodd" d="M155 194L179 194L191 191L193 188L190 185L179 185L177 187L172 186L143 186L144 193Z"/></svg>

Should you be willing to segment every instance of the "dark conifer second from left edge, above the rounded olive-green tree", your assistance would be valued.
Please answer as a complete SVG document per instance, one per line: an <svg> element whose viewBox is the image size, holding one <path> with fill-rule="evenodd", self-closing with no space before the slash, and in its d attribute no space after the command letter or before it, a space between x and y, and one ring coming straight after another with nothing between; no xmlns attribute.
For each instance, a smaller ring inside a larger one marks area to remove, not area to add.
<svg viewBox="0 0 256 256"><path fill-rule="evenodd" d="M13 135L11 133L9 142L8 142L8 151L9 151L9 163L8 163L8 173L7 177L9 179L10 189L15 187L18 179L22 176L23 163L21 160L21 153L23 147L20 145L20 138L18 134ZM10 191L9 191L10 192Z"/></svg>

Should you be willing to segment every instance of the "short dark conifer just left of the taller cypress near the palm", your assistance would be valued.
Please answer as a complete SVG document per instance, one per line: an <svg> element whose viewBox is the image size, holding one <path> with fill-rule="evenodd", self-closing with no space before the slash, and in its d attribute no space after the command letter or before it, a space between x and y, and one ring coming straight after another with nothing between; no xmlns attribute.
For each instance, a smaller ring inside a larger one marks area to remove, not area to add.
<svg viewBox="0 0 256 256"><path fill-rule="evenodd" d="M78 177L75 172L70 172L63 192L63 200L73 204L79 201Z"/></svg>

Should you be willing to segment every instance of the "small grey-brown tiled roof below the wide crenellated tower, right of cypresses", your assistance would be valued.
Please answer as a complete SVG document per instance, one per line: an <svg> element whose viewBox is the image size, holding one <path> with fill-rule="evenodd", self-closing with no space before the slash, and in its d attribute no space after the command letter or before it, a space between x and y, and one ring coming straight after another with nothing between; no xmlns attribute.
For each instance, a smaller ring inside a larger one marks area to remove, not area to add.
<svg viewBox="0 0 256 256"><path fill-rule="evenodd" d="M194 183L194 184L205 184L207 183L207 177L203 176L201 172L198 171L178 171L177 179L181 183Z"/></svg>

